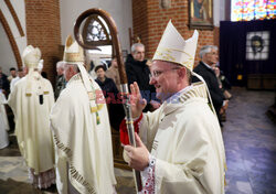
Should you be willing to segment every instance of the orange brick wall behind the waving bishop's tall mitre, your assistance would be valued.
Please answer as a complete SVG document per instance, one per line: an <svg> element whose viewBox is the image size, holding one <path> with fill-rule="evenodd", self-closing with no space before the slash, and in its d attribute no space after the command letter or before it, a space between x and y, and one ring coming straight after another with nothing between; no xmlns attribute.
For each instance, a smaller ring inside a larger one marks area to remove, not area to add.
<svg viewBox="0 0 276 194"><path fill-rule="evenodd" d="M151 58L161 39L168 21L187 40L192 36L193 30L189 30L189 0L171 0L170 9L161 9L159 0L132 0L134 35L140 36L146 45L146 57ZM216 31L217 32L217 31ZM194 64L199 62L199 50L206 44L219 44L214 30L199 30L200 36Z"/></svg>

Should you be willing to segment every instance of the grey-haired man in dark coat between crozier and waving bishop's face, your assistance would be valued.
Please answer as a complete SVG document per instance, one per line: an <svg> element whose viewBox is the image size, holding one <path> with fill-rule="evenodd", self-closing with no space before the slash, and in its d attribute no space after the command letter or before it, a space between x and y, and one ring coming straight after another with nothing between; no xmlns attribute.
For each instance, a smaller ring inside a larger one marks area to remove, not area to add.
<svg viewBox="0 0 276 194"><path fill-rule="evenodd" d="M140 88L141 96L147 100L147 106L144 111L151 109L150 101L155 98L155 87L149 85L149 67L145 60L145 46L141 43L135 43L131 46L131 54L126 60L126 73L128 84L136 82Z"/></svg>

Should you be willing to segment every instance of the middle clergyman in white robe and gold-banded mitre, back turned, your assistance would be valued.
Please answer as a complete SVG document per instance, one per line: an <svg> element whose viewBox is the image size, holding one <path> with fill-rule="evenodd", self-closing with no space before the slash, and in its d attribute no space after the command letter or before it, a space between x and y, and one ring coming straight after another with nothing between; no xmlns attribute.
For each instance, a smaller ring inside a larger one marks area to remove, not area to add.
<svg viewBox="0 0 276 194"><path fill-rule="evenodd" d="M60 194L116 193L112 133L105 98L84 68L83 50L68 36L64 52L67 82L51 112Z"/></svg>

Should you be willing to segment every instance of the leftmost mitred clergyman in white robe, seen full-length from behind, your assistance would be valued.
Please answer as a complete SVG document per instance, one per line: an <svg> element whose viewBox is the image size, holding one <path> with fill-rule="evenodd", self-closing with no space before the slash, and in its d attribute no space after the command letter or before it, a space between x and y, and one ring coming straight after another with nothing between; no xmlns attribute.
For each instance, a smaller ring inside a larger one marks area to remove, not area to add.
<svg viewBox="0 0 276 194"><path fill-rule="evenodd" d="M51 83L35 69L41 52L29 45L22 54L28 75L9 96L15 120L18 144L32 184L46 188L55 183L54 144L50 129L50 111L54 104Z"/></svg>

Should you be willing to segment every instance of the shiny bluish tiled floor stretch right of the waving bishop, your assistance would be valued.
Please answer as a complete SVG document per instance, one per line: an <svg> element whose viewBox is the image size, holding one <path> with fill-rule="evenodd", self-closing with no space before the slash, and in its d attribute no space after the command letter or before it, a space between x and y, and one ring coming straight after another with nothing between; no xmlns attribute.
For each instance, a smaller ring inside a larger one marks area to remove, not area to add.
<svg viewBox="0 0 276 194"><path fill-rule="evenodd" d="M276 125L266 111L275 93L235 88L223 137L226 194L276 193Z"/></svg>

